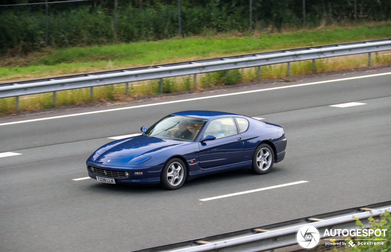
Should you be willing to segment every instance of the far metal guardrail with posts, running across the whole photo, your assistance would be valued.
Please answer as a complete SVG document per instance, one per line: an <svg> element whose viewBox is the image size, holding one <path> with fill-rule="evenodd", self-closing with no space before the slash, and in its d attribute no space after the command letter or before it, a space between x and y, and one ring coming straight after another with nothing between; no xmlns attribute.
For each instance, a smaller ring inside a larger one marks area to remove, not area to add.
<svg viewBox="0 0 391 252"><path fill-rule="evenodd" d="M371 52L385 50L391 50L391 39L361 41L319 47L306 47L274 52L262 52L259 54L231 56L226 58L203 59L198 61L186 61L165 65L136 67L91 74L11 82L0 85L0 98L17 97L18 103L18 97L22 95L54 92L53 98L55 103L55 92L57 91L77 88L91 88L92 95L92 88L94 86L126 83L128 90L129 82L150 79L161 79L160 89L161 92L163 92L162 80L163 78L167 77L194 75L194 83L196 83L197 74L224 70L227 71L228 74L228 70L249 67L258 67L259 76L260 66L273 65L278 63L288 63L287 76L289 76L290 62L312 59L314 67L315 59L368 53L368 65L370 65Z"/></svg>

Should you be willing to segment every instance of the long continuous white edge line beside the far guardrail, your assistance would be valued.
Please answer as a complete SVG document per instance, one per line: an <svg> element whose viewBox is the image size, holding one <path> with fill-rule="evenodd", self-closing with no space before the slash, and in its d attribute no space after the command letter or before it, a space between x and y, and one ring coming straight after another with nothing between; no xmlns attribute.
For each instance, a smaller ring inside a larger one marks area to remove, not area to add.
<svg viewBox="0 0 391 252"><path fill-rule="evenodd" d="M167 102L163 102L163 103L144 104L144 105L138 105L138 106L125 107L125 108L113 108L113 109L109 109L109 110L99 110L99 111L77 113L77 114L71 114L71 115L59 115L59 116L54 116L54 117L45 117L45 118L31 119L31 120L18 121L18 122L5 122L5 123L0 123L0 126L9 125L9 124L23 123L23 122L35 122L35 121L43 121L43 120L49 120L49 119L57 119L57 118L71 117L71 116L77 116L77 115L89 115L89 114L102 113L102 112L111 112L111 111L117 111L117 110L127 110L127 109L131 109L131 108L143 108L143 107L157 106L157 105L170 104L170 103L181 103L181 102L184 102L184 101L196 101L196 100L216 98L216 97L223 97L223 96L230 96L230 95L249 94L249 93L262 92L262 91L268 91L268 90L292 88L292 87L296 87L296 86L308 86L308 85L315 85L315 84L321 84L321 83L330 83L330 82L336 82L336 81L347 81L347 80L352 80L352 79L361 79L361 78L382 76L382 75L388 75L388 74L391 74L391 72L383 73L383 74L371 74L371 75L366 75L366 76L349 77L349 78L343 78L343 79L333 79L333 80L328 80L328 81L317 81L317 82L311 82L311 83L296 84L296 85L291 85L291 86L279 86L279 87L275 87L275 88L264 88L264 89L244 91L244 92L237 92L237 93L230 93L230 94L211 95L211 96L191 98L191 99L184 99L184 100L177 100L177 101L167 101Z"/></svg>

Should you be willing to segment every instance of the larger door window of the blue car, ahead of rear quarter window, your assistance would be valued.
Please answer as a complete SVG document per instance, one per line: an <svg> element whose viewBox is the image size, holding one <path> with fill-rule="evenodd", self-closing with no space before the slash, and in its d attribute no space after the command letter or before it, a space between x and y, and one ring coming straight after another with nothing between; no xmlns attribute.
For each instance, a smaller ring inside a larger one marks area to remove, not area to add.
<svg viewBox="0 0 391 252"><path fill-rule="evenodd" d="M204 137L207 135L215 135L216 139L222 137L229 137L237 135L238 130L236 128L235 121L232 117L225 117L220 119L215 119L208 125L204 132Z"/></svg>

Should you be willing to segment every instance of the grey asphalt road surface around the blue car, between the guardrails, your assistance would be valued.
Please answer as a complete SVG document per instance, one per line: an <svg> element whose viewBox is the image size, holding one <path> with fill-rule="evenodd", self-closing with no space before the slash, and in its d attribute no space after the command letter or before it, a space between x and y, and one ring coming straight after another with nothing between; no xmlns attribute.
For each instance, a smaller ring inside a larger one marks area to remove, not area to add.
<svg viewBox="0 0 391 252"><path fill-rule="evenodd" d="M331 106L352 102L364 104ZM279 124L285 160L267 175L231 171L176 191L73 180L108 137L182 110ZM3 118L0 251L127 252L390 200L390 125L390 68ZM200 201L298 181L308 182Z"/></svg>

